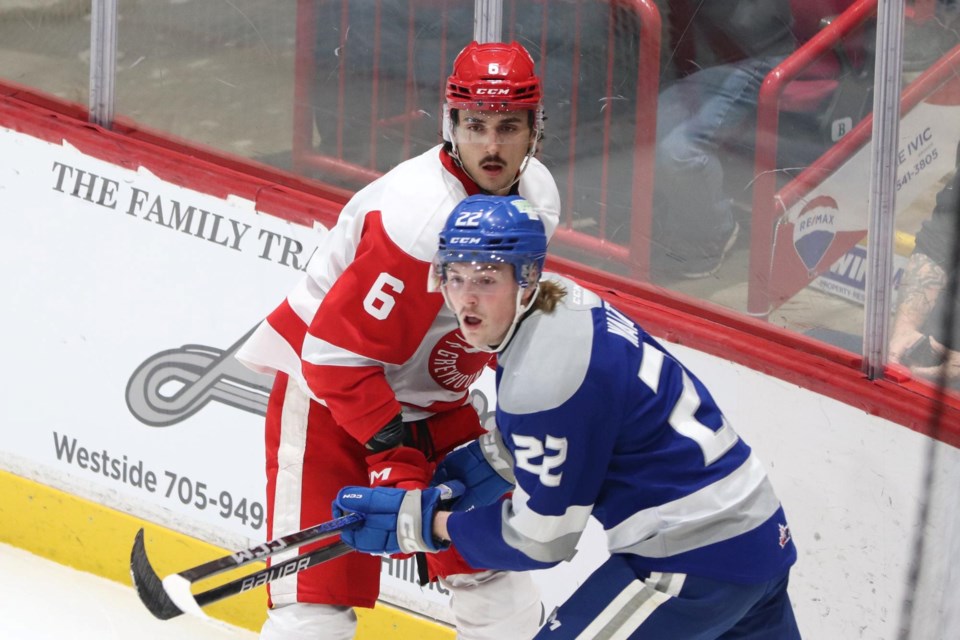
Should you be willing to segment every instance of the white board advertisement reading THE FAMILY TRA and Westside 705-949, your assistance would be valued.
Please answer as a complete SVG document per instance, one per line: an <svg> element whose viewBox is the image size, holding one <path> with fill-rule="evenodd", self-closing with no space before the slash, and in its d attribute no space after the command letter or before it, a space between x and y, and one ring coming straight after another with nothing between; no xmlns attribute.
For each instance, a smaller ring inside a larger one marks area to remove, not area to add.
<svg viewBox="0 0 960 640"><path fill-rule="evenodd" d="M228 549L264 541L272 378L234 354L326 230L68 143L0 128L0 148L3 355L16 371L0 397L0 468ZM489 424L493 379L472 392ZM558 582L541 582L559 604ZM419 586L412 560L384 560L382 591L452 621L449 594Z"/></svg>

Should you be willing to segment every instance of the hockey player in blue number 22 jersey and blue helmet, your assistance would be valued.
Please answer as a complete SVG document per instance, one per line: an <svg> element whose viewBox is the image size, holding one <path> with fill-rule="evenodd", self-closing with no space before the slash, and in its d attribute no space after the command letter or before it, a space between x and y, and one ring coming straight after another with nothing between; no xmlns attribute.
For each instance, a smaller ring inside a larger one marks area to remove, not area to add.
<svg viewBox="0 0 960 640"><path fill-rule="evenodd" d="M763 465L690 371L596 294L541 278L543 225L516 196L471 196L440 234L435 278L474 348L498 353L497 429L435 483L345 487L343 540L368 553L456 545L476 567L569 560L592 515L610 558L537 638L794 639L796 549ZM510 493L512 492L512 493Z"/></svg>

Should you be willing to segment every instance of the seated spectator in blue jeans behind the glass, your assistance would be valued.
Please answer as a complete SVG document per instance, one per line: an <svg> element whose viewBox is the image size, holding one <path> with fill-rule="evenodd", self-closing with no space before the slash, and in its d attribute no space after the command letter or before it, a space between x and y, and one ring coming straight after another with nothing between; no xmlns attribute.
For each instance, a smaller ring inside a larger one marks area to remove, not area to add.
<svg viewBox="0 0 960 640"><path fill-rule="evenodd" d="M692 73L657 108L654 266L711 276L739 231L724 188L719 146L753 119L764 77L796 48L789 0L704 0L694 28L741 59Z"/></svg>

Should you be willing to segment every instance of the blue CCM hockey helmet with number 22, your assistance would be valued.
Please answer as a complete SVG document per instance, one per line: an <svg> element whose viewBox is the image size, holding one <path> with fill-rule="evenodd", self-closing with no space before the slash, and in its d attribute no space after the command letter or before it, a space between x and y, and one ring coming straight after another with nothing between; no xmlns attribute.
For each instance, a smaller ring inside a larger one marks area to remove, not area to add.
<svg viewBox="0 0 960 640"><path fill-rule="evenodd" d="M547 257L547 233L533 206L520 196L480 194L454 207L440 232L435 275L446 281L453 262L501 262L513 266L517 284L536 284Z"/></svg>

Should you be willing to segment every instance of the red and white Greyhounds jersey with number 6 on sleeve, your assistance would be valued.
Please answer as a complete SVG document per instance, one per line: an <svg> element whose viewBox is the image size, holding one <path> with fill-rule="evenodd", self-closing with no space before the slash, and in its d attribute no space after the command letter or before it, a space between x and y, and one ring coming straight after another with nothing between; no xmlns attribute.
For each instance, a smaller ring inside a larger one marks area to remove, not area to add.
<svg viewBox="0 0 960 640"><path fill-rule="evenodd" d="M552 235L560 195L550 172L531 159L518 187ZM357 192L304 278L237 357L297 380L359 442L401 408L415 420L462 405L489 354L460 337L442 295L427 283L444 222L475 193L440 146Z"/></svg>

